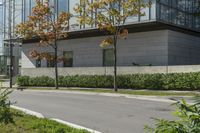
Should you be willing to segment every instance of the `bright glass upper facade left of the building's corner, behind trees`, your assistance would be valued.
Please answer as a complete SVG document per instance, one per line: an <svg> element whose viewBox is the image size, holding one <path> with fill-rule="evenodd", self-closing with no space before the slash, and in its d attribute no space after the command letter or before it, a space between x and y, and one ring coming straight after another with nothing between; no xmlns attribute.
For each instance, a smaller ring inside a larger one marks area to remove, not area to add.
<svg viewBox="0 0 200 133"><path fill-rule="evenodd" d="M3 0L4 5L4 25L8 24L8 0ZM92 1L92 0L91 0ZM149 2L149 0L145 0L145 2ZM49 0L50 5L54 6L56 16L62 12L70 12L73 14L73 17L70 19L69 27L70 30L80 30L85 28L95 28L95 25L82 25L79 26L77 22L77 16L79 14L76 14L74 11L74 7L76 4L80 3L80 0ZM14 27L19 24L20 22L24 22L28 20L28 16L31 15L31 9L35 5L35 0L12 0L13 9L12 9L12 15L13 15L13 32ZM142 12L145 12L145 16L131 16L127 19L126 23L137 23L140 21L149 21L149 20L155 20L156 19L156 0L152 0L152 6L142 9ZM92 14L92 16L95 19L95 14ZM14 36L14 34L13 34ZM5 35L4 38L7 38Z"/></svg>

